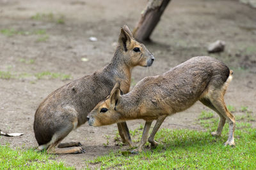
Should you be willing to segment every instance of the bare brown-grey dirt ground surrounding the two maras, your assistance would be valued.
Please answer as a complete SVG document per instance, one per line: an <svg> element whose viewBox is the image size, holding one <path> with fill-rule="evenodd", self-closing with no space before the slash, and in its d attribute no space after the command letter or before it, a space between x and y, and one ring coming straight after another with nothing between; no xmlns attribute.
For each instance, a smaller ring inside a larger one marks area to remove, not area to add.
<svg viewBox="0 0 256 170"><path fill-rule="evenodd" d="M120 26L127 24L132 29L145 4L147 1L135 0L122 3L118 0L0 0L0 71L15 75L0 79L0 129L24 133L15 138L1 136L0 145L36 147L33 120L40 102L65 83L108 64ZM14 32L8 36L3 30ZM98 41L90 41L91 36ZM191 57L210 55L234 70L225 96L226 103L236 108L234 115L244 114L239 109L248 106L255 117L255 9L234 0L175 0L169 4L151 38L152 43L146 46L156 60L147 69L133 70L132 86L145 76L164 73ZM208 54L207 45L217 39L226 42L225 52ZM82 58L88 61L83 62ZM70 74L72 78L36 78L36 73L44 71ZM162 127L204 130L196 124L202 110L208 109L196 103L189 110L166 119ZM129 129L143 123L143 120L130 121ZM86 153L58 155L57 159L81 169L84 160L119 150L114 141L116 129L116 125L96 128L84 124L64 141L80 141ZM108 136L109 145L104 146Z"/></svg>

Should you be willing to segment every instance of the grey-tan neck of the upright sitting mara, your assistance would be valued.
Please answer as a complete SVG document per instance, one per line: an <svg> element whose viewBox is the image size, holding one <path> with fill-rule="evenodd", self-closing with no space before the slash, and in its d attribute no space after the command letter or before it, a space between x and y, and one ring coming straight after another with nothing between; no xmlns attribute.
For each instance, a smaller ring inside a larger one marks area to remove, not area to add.
<svg viewBox="0 0 256 170"><path fill-rule="evenodd" d="M103 71L110 73L115 81L124 83L124 85L121 86L124 86L125 88L121 87L121 89L124 93L127 93L129 92L129 87L131 84L132 68L133 67L127 63L127 60L125 60L124 50L122 47L117 46L113 59Z"/></svg>

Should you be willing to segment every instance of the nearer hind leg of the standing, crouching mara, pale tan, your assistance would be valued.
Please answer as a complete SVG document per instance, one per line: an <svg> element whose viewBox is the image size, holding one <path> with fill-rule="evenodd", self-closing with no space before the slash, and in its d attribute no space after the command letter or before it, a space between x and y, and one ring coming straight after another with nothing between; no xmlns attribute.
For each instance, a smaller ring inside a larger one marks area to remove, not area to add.
<svg viewBox="0 0 256 170"><path fill-rule="evenodd" d="M228 132L228 140L225 145L234 146L234 131L236 126L236 120L234 115L227 110L226 104L224 102L224 93L225 91L221 92L221 90L215 90L212 95L209 97L212 105L216 110L218 110L223 117L225 117L229 124L229 132Z"/></svg>

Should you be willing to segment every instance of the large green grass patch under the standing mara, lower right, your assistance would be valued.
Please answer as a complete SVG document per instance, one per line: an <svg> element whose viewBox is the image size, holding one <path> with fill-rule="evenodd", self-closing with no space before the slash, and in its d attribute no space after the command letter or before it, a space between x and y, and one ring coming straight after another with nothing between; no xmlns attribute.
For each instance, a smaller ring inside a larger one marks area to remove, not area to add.
<svg viewBox="0 0 256 170"><path fill-rule="evenodd" d="M237 122L236 147L224 146L228 124L220 138L210 134L216 131L218 119L203 111L198 122L207 127L205 131L161 129L156 134L157 148L150 150L146 147L144 152L134 155L122 154L124 152L119 150L86 164L88 167L99 164L100 169L255 169L256 129L248 122ZM141 136L141 132L135 134Z"/></svg>

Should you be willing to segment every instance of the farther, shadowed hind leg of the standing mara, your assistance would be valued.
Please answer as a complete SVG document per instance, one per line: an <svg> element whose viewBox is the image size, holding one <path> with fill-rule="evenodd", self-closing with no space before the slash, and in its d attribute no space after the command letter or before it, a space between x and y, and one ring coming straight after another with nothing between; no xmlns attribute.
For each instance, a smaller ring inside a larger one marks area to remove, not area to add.
<svg viewBox="0 0 256 170"><path fill-rule="evenodd" d="M220 122L218 125L218 129L216 132L211 132L212 136L221 136L221 132L223 129L223 126L225 125L226 122L226 118L223 117L223 115L221 115L221 113L213 106L213 104L211 103L211 101L207 98L202 98L199 100L202 104L204 104L205 106L207 106L208 108L210 108L211 110L215 111L216 113L218 113L218 115L220 116Z"/></svg>

